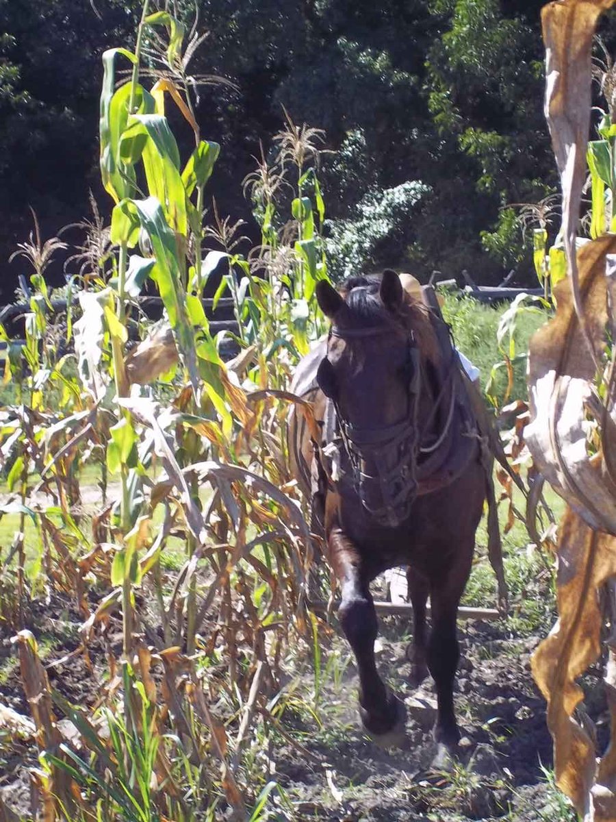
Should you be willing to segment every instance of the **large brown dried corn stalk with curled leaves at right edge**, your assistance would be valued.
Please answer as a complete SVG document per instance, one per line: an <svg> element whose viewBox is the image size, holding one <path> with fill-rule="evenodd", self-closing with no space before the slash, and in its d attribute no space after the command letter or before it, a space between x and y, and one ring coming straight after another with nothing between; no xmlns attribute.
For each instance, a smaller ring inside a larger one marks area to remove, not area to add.
<svg viewBox="0 0 616 822"><path fill-rule="evenodd" d="M616 575L611 459L616 351L609 350L616 323L614 286L606 275L616 237L597 238L577 251L577 231L590 127L592 37L601 12L612 3L564 0L542 12L545 110L563 189L568 279L554 289L554 319L531 340L531 423L525 432L536 465L569 504L559 533L559 621L536 651L533 676L548 701L557 783L585 820L601 822L616 820L616 728L613 722L611 745L597 760L576 678L600 655L605 621L600 589Z"/></svg>

